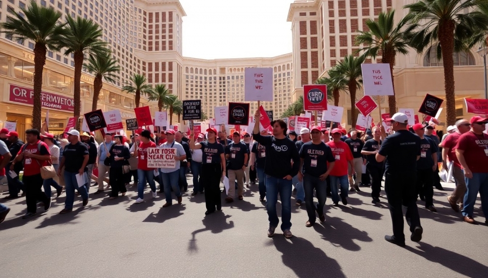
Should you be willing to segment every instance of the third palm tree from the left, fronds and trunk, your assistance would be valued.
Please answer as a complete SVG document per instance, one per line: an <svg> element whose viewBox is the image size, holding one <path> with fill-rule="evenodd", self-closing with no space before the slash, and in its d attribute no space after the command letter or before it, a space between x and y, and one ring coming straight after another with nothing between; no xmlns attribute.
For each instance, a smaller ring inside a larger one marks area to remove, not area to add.
<svg viewBox="0 0 488 278"><path fill-rule="evenodd" d="M88 57L88 63L84 64L84 70L93 73L95 75L95 80L93 81L93 101L92 101L92 111L97 110L98 97L100 95L100 90L102 90L103 80L115 83L114 78L116 78L114 73L120 71L120 66L117 65L118 60L112 58L112 53L107 50L106 53L101 53L99 55L92 55Z"/></svg>

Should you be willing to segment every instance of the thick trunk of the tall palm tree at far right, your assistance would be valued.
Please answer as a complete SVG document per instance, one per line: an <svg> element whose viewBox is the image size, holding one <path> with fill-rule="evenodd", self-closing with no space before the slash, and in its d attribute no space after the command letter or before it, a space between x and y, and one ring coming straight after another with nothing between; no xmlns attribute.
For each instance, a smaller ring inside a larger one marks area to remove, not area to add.
<svg viewBox="0 0 488 278"><path fill-rule="evenodd" d="M442 48L444 63L444 88L446 91L446 125L456 122L456 99L454 92L454 23L444 22L439 25L439 43Z"/></svg>

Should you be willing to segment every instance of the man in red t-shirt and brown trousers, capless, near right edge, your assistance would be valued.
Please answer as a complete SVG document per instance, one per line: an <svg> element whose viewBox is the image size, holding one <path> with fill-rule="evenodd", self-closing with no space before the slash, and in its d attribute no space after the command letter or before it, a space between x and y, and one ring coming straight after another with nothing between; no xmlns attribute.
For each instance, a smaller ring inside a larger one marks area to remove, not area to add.
<svg viewBox="0 0 488 278"><path fill-rule="evenodd" d="M461 164L456 157L456 145L459 141L461 134L469 131L471 124L468 120L462 119L456 122L457 130L449 133L446 138L442 141L442 167L448 171L447 159L449 163L452 162L452 177L456 183L456 188L450 196L447 197L447 201L451 205L454 212L459 213L460 207L463 207L463 198L466 193L466 182L464 180L464 172L461 168ZM459 205L458 205L459 204Z"/></svg>

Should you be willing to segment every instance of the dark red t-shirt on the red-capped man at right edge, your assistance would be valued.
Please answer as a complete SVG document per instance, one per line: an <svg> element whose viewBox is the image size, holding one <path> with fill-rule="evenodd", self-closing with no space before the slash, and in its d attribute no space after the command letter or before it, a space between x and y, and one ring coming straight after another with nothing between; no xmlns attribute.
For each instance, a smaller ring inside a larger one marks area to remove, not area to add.
<svg viewBox="0 0 488 278"><path fill-rule="evenodd" d="M456 148L464 151L471 172L488 173L488 134L468 131L459 137Z"/></svg>

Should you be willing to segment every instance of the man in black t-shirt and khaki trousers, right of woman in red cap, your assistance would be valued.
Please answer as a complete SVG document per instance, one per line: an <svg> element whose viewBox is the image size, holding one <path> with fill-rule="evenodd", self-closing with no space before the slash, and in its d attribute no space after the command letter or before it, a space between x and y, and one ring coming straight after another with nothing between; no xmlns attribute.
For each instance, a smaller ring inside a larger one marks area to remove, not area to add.
<svg viewBox="0 0 488 278"><path fill-rule="evenodd" d="M248 166L249 152L246 144L240 142L239 132L232 134L234 141L225 148L225 158L229 160L227 169L229 175L229 192L225 201L230 203L234 201L235 196L235 180L237 179L237 188L239 200L244 197L244 170Z"/></svg>

